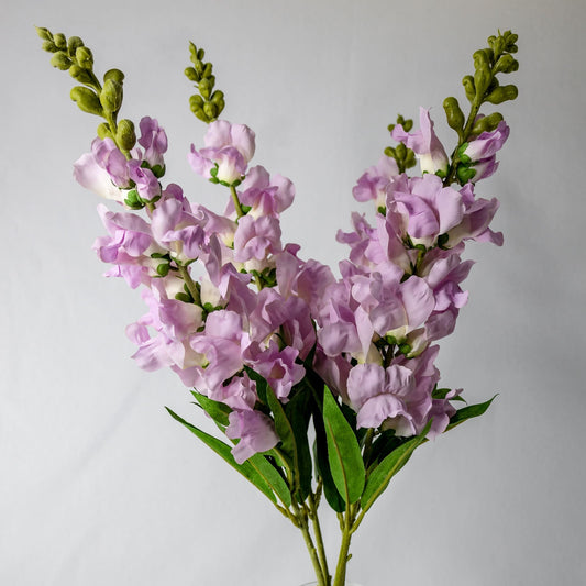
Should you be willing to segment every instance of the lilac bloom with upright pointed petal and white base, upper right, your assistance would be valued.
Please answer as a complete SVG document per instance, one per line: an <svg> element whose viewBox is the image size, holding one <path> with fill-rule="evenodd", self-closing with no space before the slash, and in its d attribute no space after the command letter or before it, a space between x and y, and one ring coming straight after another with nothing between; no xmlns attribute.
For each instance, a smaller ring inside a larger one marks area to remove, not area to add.
<svg viewBox="0 0 586 586"><path fill-rule="evenodd" d="M429 115L429 110L419 109L420 130L409 133L401 124L397 124L390 135L396 141L403 143L408 148L419 155L421 173L438 173L445 177L449 169L449 158L445 150L433 131L433 122Z"/></svg>

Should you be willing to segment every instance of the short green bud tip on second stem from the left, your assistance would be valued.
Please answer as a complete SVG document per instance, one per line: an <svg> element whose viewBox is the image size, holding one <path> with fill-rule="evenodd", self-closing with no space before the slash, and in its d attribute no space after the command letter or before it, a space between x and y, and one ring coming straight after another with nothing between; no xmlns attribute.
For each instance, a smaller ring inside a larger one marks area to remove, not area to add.
<svg viewBox="0 0 586 586"><path fill-rule="evenodd" d="M214 90L215 77L212 75L212 64L203 63L206 52L189 43L189 59L191 67L185 69L186 77L195 82L198 93L189 98L189 107L197 118L209 124L218 119L224 109L224 95Z"/></svg>

